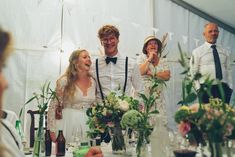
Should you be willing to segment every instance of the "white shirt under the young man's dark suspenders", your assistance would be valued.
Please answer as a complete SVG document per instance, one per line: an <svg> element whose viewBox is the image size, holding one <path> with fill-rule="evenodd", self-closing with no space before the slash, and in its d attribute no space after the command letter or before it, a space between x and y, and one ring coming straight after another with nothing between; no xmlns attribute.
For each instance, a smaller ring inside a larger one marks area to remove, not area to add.
<svg viewBox="0 0 235 157"><path fill-rule="evenodd" d="M98 58L99 80L104 96L107 96L111 91L118 91L118 89L123 91L124 88L126 56L122 56L117 53L114 57L117 57L116 64L113 64L112 62L106 64L106 56ZM91 74L96 80L97 98L100 99L101 94L96 76L96 60L93 61L92 65ZM135 93L143 92L143 82L139 66L133 59L128 57L128 73L125 94L132 96L132 87L134 88Z"/></svg>

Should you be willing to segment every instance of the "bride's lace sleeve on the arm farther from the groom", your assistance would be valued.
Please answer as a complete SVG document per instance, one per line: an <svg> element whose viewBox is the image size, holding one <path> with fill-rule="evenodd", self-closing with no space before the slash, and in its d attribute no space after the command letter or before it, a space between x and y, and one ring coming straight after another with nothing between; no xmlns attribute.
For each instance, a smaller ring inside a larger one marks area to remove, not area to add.
<svg viewBox="0 0 235 157"><path fill-rule="evenodd" d="M52 132L55 132L56 129L56 108L61 105L63 107L63 95L64 95L64 87L65 87L65 80L63 78L57 81L56 85L56 95L57 99L54 99L50 102L48 107L48 114L47 114L47 129Z"/></svg>

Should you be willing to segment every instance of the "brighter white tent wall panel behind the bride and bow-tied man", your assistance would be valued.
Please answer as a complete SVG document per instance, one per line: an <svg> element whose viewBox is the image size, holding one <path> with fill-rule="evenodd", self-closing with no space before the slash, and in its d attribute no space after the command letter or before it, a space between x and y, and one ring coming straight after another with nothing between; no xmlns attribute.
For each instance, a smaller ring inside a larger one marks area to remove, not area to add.
<svg viewBox="0 0 235 157"><path fill-rule="evenodd" d="M4 104L17 114L45 81L55 85L74 49L85 48L92 56L100 55L97 31L102 25L114 24L120 29L119 51L131 57L141 50L152 28L148 0L0 1L0 24L12 33L15 47L4 70L9 81ZM27 105L25 111L36 105ZM30 121L28 114L24 115L28 135Z"/></svg>

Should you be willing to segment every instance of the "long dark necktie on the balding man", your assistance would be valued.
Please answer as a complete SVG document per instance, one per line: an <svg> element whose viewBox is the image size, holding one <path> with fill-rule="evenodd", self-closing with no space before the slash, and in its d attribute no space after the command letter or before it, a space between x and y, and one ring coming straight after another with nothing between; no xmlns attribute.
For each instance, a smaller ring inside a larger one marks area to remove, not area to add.
<svg viewBox="0 0 235 157"><path fill-rule="evenodd" d="M221 70L221 63L220 63L218 51L216 49L216 45L211 45L211 48L212 48L212 52L214 56L216 78L219 80L222 80L223 74Z"/></svg>

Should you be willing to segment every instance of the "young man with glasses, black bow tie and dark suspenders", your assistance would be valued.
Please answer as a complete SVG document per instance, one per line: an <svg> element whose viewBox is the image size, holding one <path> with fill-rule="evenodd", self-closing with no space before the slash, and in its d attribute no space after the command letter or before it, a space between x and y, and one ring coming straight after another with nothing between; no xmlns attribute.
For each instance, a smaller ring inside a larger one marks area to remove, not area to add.
<svg viewBox="0 0 235 157"><path fill-rule="evenodd" d="M92 74L97 82L97 98L101 100L111 91L121 90L131 96L133 88L136 93L143 90L139 66L118 51L119 35L113 25L104 25L98 31L105 56L95 60Z"/></svg>

